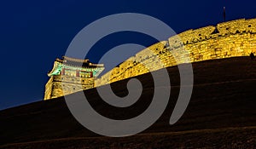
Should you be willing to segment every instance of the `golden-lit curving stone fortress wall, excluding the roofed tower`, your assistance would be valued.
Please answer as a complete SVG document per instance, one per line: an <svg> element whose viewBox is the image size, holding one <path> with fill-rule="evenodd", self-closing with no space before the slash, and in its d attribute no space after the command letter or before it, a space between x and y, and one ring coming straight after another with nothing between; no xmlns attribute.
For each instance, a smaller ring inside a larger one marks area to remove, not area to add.
<svg viewBox="0 0 256 149"><path fill-rule="evenodd" d="M97 78L95 87L135 77L163 67L201 60L256 54L256 19L232 20L182 32L143 49ZM188 58L189 57L189 61ZM176 59L175 59L176 58Z"/></svg>

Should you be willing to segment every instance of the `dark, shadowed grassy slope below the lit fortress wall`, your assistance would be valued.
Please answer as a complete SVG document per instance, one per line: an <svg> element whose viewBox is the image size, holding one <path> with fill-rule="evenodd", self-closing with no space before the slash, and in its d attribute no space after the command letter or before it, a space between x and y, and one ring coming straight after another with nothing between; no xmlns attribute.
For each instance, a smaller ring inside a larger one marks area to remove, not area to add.
<svg viewBox="0 0 256 149"><path fill-rule="evenodd" d="M253 148L256 145L256 61L247 57L193 64L195 86L189 107L174 125L168 121L179 90L177 66L168 68L172 95L166 111L140 135L108 138L84 129L69 113L65 100L41 101L0 112L0 148ZM90 104L106 117L137 116L150 104L150 74L137 77L143 95L133 106L119 109L102 102L95 89L86 90ZM113 83L117 95L127 94L127 80ZM18 143L18 144L17 144Z"/></svg>

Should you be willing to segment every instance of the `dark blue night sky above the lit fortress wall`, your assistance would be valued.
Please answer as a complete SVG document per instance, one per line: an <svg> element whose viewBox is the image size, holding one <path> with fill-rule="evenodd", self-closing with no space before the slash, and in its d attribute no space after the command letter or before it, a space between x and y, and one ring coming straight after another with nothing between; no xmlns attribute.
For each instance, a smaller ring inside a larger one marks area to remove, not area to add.
<svg viewBox="0 0 256 149"><path fill-rule="evenodd" d="M141 13L164 21L179 33L227 20L256 18L255 0L9 0L0 2L1 96L0 109L44 98L44 85L55 58L65 54L73 37L103 16ZM116 34L102 39L88 55L92 62L108 48L122 43L148 46L154 40Z"/></svg>

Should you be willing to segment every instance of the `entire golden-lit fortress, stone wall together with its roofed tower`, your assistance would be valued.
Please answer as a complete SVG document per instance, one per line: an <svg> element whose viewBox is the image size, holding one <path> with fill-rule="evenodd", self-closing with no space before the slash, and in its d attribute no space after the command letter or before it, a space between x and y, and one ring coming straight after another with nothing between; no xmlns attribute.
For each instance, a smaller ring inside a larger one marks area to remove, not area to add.
<svg viewBox="0 0 256 149"><path fill-rule="evenodd" d="M168 66L256 54L256 19L232 20L188 30L141 50L96 78L104 69L90 60L63 57L48 73L44 100L113 83Z"/></svg>

